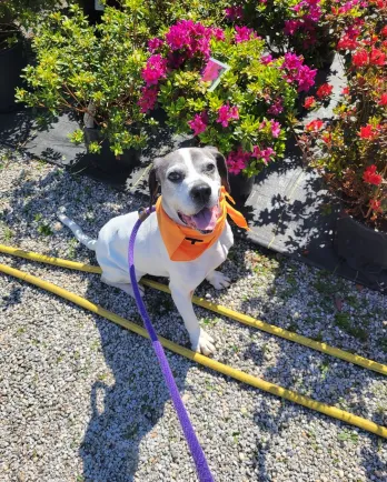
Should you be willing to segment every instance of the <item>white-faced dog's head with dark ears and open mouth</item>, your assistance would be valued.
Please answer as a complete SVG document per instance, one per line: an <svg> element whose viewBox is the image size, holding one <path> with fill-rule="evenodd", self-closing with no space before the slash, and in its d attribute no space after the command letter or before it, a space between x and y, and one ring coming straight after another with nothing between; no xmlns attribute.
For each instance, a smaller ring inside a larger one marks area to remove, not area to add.
<svg viewBox="0 0 387 482"><path fill-rule="evenodd" d="M161 187L166 213L200 232L215 228L220 187L230 190L225 157L212 147L178 149L155 159L148 183L151 204Z"/></svg>

